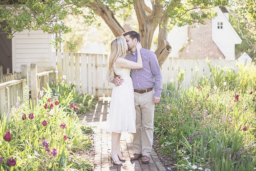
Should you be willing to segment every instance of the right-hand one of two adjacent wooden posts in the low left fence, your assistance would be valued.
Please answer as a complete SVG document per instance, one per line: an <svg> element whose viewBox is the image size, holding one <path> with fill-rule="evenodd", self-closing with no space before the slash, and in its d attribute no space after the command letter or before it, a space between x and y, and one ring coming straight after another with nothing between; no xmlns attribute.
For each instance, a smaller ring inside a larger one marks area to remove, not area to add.
<svg viewBox="0 0 256 171"><path fill-rule="evenodd" d="M38 103L38 79L37 79L36 64L30 65L30 72L31 72L31 99L32 99L33 106L35 106Z"/></svg>

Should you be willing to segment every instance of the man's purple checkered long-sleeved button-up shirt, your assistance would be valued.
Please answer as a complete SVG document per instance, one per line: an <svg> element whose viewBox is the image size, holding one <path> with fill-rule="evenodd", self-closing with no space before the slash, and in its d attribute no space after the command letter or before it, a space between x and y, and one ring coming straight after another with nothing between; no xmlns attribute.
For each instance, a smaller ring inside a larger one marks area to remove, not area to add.
<svg viewBox="0 0 256 171"><path fill-rule="evenodd" d="M162 75L157 61L157 55L148 49L140 49L143 62L142 69L131 70L131 79L134 89L146 89L155 86L154 96L160 97L163 90ZM137 62L137 50L135 54L129 52L125 55L125 59Z"/></svg>

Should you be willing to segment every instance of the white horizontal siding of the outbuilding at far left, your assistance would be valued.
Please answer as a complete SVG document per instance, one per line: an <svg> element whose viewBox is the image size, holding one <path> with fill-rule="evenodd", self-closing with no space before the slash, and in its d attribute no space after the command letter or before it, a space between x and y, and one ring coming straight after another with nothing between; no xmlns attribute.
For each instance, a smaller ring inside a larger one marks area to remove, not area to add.
<svg viewBox="0 0 256 171"><path fill-rule="evenodd" d="M39 31L25 30L15 33L12 39L12 67L13 71L19 72L20 65L37 64L37 67L55 66L52 57L52 46L49 44L52 36Z"/></svg>

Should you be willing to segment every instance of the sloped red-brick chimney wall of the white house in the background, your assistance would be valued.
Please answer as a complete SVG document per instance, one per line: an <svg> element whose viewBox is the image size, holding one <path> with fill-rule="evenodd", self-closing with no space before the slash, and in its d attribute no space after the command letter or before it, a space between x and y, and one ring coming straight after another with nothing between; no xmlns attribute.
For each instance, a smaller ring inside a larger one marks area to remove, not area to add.
<svg viewBox="0 0 256 171"><path fill-rule="evenodd" d="M188 27L188 43L180 52L180 58L224 59L224 55L212 41L212 21L197 28Z"/></svg>

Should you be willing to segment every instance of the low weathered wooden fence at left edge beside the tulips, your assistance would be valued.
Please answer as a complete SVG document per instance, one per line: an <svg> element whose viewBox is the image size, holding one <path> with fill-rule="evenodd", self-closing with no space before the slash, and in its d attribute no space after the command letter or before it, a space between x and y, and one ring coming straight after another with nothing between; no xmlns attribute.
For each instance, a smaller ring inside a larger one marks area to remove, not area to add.
<svg viewBox="0 0 256 171"><path fill-rule="evenodd" d="M29 80L27 65L21 65L20 72L9 73L7 70L7 74L4 75L3 67L0 66L0 114L7 115L7 119L9 119L11 108L15 106L18 99L22 100L26 96L25 86L31 87L31 99L33 104L37 104L42 87L47 87L46 84L52 81L52 78L56 79L55 70L46 71L49 69L37 69L36 64L31 64L31 80Z"/></svg>

